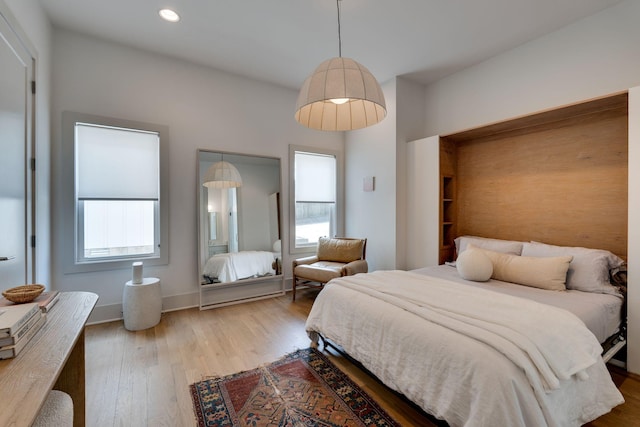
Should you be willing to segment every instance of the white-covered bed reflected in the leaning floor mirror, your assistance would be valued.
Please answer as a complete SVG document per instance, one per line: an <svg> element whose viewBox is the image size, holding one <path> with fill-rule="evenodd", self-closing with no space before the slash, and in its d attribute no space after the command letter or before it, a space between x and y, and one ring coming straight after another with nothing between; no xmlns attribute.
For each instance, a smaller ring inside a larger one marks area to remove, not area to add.
<svg viewBox="0 0 640 427"><path fill-rule="evenodd" d="M274 275L275 259L274 252L268 251L216 254L207 260L202 275L208 284Z"/></svg>

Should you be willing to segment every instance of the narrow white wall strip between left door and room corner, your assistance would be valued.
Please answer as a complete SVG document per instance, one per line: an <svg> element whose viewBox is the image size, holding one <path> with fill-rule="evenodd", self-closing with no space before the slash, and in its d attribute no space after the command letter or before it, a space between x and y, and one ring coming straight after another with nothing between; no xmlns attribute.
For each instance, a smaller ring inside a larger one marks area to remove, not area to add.
<svg viewBox="0 0 640 427"><path fill-rule="evenodd" d="M51 25L37 0L0 0L6 3L18 21L36 55L36 252L35 281L52 286L51 281L51 143L50 143L50 87L51 87Z"/></svg>

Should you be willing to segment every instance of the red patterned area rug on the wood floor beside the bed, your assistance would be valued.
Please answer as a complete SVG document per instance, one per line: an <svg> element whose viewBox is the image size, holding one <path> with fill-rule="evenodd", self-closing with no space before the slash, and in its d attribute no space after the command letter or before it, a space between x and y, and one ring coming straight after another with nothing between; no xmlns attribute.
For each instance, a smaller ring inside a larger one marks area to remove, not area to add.
<svg viewBox="0 0 640 427"><path fill-rule="evenodd" d="M399 426L315 349L190 386L198 426Z"/></svg>

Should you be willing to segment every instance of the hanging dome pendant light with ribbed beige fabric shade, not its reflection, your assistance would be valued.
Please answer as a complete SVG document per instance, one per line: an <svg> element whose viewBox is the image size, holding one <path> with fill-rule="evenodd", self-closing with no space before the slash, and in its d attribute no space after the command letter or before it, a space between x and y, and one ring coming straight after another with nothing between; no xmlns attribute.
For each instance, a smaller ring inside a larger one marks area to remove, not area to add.
<svg viewBox="0 0 640 427"><path fill-rule="evenodd" d="M354 130L374 125L387 115L380 84L366 67L342 57L338 9L337 58L324 61L307 77L296 103L296 120L311 129Z"/></svg>

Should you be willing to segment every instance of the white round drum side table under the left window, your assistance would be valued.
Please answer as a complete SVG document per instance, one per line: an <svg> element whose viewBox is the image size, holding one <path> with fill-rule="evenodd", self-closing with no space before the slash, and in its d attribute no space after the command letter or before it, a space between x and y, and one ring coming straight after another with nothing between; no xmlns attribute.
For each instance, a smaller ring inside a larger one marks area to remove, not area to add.
<svg viewBox="0 0 640 427"><path fill-rule="evenodd" d="M142 283L129 280L122 294L122 314L124 327L129 331L139 331L154 327L162 314L162 293L160 279L145 277Z"/></svg>

